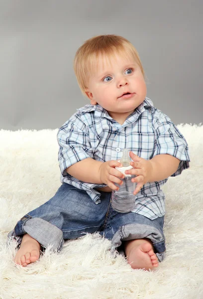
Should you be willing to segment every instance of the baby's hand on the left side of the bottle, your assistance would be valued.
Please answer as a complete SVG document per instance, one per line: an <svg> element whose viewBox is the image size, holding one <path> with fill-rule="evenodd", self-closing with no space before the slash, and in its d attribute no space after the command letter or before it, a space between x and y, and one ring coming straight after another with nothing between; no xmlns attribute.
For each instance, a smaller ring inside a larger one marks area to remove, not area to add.
<svg viewBox="0 0 203 299"><path fill-rule="evenodd" d="M112 190L118 190L119 188L114 183L121 185L122 180L119 177L124 178L124 174L115 167L122 167L122 165L116 160L110 160L103 162L99 170L102 183L108 185Z"/></svg>

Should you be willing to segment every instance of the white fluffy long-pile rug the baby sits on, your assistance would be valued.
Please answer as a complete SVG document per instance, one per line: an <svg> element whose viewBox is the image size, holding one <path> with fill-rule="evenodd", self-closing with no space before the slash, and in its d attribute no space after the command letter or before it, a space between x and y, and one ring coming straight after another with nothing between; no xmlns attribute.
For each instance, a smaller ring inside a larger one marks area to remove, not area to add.
<svg viewBox="0 0 203 299"><path fill-rule="evenodd" d="M0 299L203 299L203 125L178 125L191 167L163 186L167 256L157 270L132 270L99 234L50 248L15 266L6 238L27 212L61 185L55 130L0 131Z"/></svg>

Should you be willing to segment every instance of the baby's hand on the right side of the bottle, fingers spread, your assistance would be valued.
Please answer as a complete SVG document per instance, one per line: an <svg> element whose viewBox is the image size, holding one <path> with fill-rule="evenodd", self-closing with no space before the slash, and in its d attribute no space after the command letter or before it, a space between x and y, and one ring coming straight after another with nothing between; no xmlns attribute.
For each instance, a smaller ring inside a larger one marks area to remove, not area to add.
<svg viewBox="0 0 203 299"><path fill-rule="evenodd" d="M133 166L133 169L125 170L126 174L135 174L135 178L132 178L132 182L136 182L137 186L133 192L136 195L140 189L149 181L150 174L152 172L152 164L150 160L145 160L138 157L132 151L129 152L129 156L132 158L133 162L130 162L130 165Z"/></svg>

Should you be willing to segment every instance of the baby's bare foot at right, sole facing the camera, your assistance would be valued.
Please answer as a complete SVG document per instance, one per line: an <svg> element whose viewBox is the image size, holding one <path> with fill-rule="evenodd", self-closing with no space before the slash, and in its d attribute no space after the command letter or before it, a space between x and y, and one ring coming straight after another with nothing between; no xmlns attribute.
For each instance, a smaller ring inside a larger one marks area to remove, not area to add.
<svg viewBox="0 0 203 299"><path fill-rule="evenodd" d="M152 242L148 239L137 239L125 242L127 261L133 269L153 269L158 267L158 258L153 251Z"/></svg>

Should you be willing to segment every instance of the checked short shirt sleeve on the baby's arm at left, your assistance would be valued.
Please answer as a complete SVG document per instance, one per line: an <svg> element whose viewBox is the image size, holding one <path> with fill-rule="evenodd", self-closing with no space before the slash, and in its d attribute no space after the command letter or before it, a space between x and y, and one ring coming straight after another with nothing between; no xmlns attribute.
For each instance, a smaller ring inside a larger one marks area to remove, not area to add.
<svg viewBox="0 0 203 299"><path fill-rule="evenodd" d="M57 133L58 161L63 176L66 168L86 158L93 158L86 125L82 121L66 122Z"/></svg>

